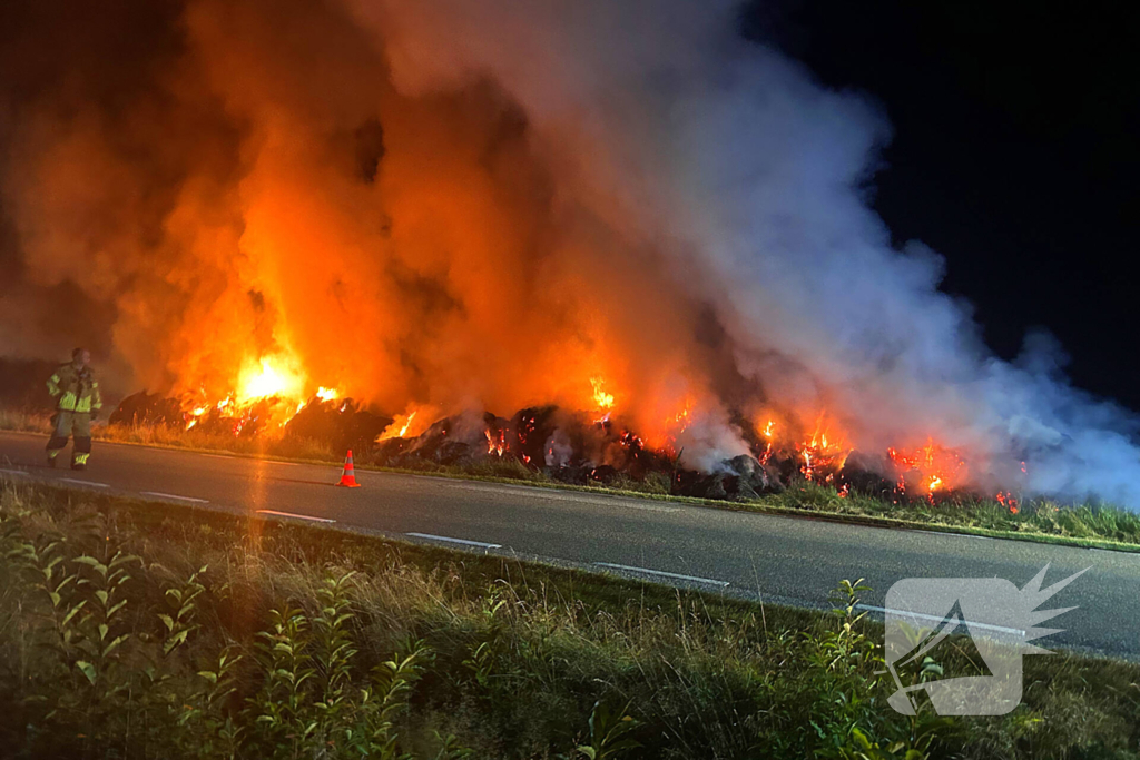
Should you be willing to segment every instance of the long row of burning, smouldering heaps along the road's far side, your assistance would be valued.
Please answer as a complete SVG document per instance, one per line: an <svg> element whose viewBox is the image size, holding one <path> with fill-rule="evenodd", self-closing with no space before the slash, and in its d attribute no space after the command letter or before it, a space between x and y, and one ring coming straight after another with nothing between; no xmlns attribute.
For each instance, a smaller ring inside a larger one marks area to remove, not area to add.
<svg viewBox="0 0 1140 760"><path fill-rule="evenodd" d="M569 484L646 484L662 493L734 501L777 493L805 481L834 488L840 497L857 493L895 504L994 498L971 484L968 461L954 450L930 440L914 450L856 451L822 412L801 439L781 436L782 423L776 419L754 422L734 415L732 424L749 451L720 458L703 469L686 467L683 449L674 440L648 444L614 418L612 397L600 386L595 391L594 410L544 406L521 409L511 417L474 411L440 416L430 407L393 417L324 387L307 401L230 395L187 403L142 392L124 399L109 422L166 425L206 435L315 441L329 451L352 449L357 463L382 467L507 464ZM687 416L687 409L677 415L678 433L685 430ZM1017 513L1015 491L999 491L996 499Z"/></svg>

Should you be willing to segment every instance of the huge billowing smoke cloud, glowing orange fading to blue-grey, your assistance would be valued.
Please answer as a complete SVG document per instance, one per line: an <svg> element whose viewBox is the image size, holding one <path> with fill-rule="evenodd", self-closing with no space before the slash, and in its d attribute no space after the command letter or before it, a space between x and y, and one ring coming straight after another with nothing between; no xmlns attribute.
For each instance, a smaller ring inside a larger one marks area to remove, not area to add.
<svg viewBox="0 0 1140 760"><path fill-rule="evenodd" d="M979 485L1140 505L1137 422L1048 341L988 354L868 207L882 115L734 3L16 5L0 353L101 342L182 393L275 356L393 411L588 409L602 378L705 468L747 450L732 414L825 409L861 450L933 435Z"/></svg>

